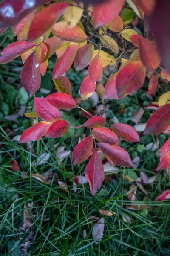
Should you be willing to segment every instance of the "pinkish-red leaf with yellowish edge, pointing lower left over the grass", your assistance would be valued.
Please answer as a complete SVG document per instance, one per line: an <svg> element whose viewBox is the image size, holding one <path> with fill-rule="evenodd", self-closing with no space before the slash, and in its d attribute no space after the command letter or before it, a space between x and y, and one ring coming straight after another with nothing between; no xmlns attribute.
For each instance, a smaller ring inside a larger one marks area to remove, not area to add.
<svg viewBox="0 0 170 256"><path fill-rule="evenodd" d="M23 131L23 133L20 137L19 143L26 143L26 142L39 140L46 134L50 125L51 125L51 123L49 123L49 122L41 121L41 122L31 126L30 128Z"/></svg>

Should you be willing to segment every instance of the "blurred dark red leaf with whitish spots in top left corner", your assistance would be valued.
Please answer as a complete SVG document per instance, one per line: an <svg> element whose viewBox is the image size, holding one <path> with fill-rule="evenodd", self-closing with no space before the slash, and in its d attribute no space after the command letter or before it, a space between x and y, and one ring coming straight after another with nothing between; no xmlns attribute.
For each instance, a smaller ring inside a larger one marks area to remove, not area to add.
<svg viewBox="0 0 170 256"><path fill-rule="evenodd" d="M4 0L0 3L0 26L14 26L23 19L29 12L45 3L46 0ZM49 1L50 2L50 1Z"/></svg>

